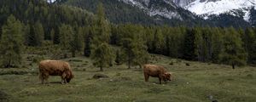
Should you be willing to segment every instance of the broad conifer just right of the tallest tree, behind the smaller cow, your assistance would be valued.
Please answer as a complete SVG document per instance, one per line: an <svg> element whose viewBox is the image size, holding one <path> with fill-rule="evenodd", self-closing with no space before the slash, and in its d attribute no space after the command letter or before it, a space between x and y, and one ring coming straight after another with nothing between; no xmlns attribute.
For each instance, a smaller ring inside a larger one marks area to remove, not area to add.
<svg viewBox="0 0 256 102"><path fill-rule="evenodd" d="M146 40L143 39L143 27L127 25L122 35L122 60L127 63L128 69L131 69L131 65L142 67L148 62L148 48Z"/></svg>

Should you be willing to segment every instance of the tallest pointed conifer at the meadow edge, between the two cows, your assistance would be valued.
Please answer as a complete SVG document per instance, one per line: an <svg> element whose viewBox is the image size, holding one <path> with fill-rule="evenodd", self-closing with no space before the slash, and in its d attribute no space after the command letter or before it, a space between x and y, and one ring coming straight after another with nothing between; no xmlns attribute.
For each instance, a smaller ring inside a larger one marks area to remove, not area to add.
<svg viewBox="0 0 256 102"><path fill-rule="evenodd" d="M110 37L110 28L108 21L105 20L105 14L102 3L99 3L97 7L97 18L94 26L92 26L93 37L91 44L90 57L93 59L94 65L100 67L103 71L103 67L111 65L113 62L113 49L108 45Z"/></svg>

